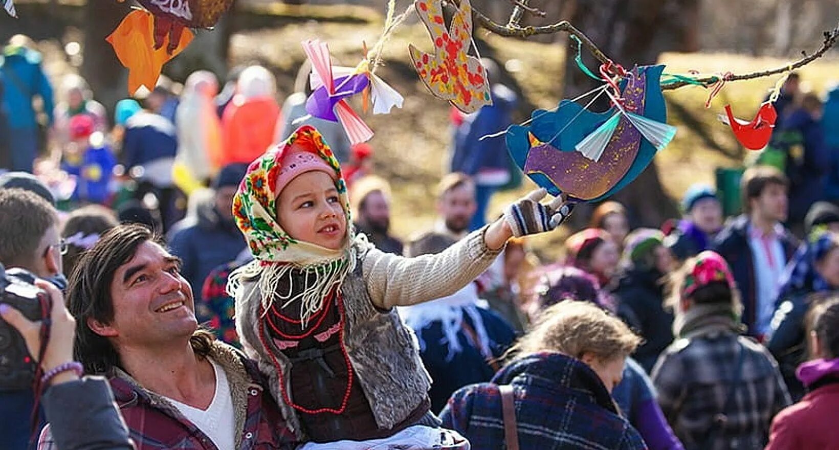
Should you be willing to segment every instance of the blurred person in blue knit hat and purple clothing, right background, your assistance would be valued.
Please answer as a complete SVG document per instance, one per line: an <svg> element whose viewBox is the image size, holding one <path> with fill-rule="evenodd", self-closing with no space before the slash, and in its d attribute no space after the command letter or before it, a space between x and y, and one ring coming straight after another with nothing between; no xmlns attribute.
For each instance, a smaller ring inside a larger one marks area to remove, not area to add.
<svg viewBox="0 0 839 450"><path fill-rule="evenodd" d="M678 261L696 256L711 246L714 236L722 229L722 204L717 190L707 184L693 184L681 201L685 217L664 238Z"/></svg>

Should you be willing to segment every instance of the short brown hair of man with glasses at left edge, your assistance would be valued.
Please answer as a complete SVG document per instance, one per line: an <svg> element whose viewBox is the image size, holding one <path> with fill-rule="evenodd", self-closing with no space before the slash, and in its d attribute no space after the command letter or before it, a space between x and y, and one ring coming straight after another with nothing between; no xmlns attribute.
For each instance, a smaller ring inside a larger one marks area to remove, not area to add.
<svg viewBox="0 0 839 450"><path fill-rule="evenodd" d="M24 189L0 189L0 262L30 269L50 226L58 224L55 208Z"/></svg>

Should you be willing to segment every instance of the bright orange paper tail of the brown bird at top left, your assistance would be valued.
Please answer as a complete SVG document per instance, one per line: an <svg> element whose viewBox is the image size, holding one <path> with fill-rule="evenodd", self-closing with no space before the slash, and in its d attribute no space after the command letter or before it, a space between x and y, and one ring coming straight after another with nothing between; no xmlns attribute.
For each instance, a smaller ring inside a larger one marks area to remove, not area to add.
<svg viewBox="0 0 839 450"><path fill-rule="evenodd" d="M171 53L167 50L169 45L154 49L154 16L149 11L135 9L105 40L112 45L119 62L128 68L128 93L133 95L141 85L149 91L154 89L163 65L185 49L192 37L192 32L185 29ZM168 41L169 37L164 39Z"/></svg>

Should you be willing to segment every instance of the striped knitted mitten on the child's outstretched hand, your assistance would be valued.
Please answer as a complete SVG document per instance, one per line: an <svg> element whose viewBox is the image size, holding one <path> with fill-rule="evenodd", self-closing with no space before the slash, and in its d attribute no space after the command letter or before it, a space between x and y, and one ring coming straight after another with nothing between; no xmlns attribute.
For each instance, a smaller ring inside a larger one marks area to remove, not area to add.
<svg viewBox="0 0 839 450"><path fill-rule="evenodd" d="M556 197L548 204L540 204L539 200L544 199L547 194L545 189L536 189L504 210L504 220L507 220L514 236L544 233L555 229L568 219L574 204L566 201L564 195Z"/></svg>

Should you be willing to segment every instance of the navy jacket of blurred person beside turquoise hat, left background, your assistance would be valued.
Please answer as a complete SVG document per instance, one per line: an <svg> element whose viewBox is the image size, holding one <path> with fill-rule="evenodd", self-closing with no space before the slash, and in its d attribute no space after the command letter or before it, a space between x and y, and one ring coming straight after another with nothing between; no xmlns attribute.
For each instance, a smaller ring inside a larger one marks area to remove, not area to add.
<svg viewBox="0 0 839 450"><path fill-rule="evenodd" d="M177 152L178 137L175 125L164 116L139 111L125 122L121 161L126 168L150 163L159 158L175 158Z"/></svg>

